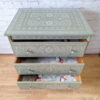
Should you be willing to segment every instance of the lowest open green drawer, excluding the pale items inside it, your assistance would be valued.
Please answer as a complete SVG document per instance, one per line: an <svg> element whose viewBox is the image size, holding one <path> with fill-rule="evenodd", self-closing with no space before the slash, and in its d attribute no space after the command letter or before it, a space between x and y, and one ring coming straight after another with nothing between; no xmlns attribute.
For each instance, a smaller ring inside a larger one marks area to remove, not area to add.
<svg viewBox="0 0 100 100"><path fill-rule="evenodd" d="M81 77L75 76L75 81L36 81L32 76L19 76L17 81L18 86L21 89L79 89L81 85Z"/></svg>

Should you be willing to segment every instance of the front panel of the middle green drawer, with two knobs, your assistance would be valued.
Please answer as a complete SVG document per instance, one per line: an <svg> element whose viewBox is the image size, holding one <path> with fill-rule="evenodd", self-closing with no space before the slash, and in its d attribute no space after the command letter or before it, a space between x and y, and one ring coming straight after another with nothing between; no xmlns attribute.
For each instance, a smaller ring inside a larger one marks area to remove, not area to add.
<svg viewBox="0 0 100 100"><path fill-rule="evenodd" d="M15 64L20 75L31 74L70 74L77 75L83 70L84 64ZM44 70L45 69L45 70Z"/></svg>

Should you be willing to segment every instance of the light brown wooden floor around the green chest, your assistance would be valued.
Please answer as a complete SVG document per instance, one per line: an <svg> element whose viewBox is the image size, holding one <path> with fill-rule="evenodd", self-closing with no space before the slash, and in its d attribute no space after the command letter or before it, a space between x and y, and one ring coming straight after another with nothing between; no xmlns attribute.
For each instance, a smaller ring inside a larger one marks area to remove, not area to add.
<svg viewBox="0 0 100 100"><path fill-rule="evenodd" d="M86 55L79 90L20 90L14 55L0 55L0 100L100 100L100 56Z"/></svg>

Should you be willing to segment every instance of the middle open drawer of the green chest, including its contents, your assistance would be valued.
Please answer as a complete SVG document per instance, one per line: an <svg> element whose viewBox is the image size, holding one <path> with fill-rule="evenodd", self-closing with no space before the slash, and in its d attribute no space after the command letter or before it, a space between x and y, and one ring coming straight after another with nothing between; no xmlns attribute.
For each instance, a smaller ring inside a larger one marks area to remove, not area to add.
<svg viewBox="0 0 100 100"><path fill-rule="evenodd" d="M62 60L63 62L61 62ZM84 67L83 58L67 57L17 58L15 67L20 75L70 74L77 75Z"/></svg>

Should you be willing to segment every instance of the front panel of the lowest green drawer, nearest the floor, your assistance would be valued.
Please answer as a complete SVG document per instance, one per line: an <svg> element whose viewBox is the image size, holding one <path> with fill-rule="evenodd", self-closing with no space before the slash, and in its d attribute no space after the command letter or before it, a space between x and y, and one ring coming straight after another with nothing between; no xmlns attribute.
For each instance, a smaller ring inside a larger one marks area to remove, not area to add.
<svg viewBox="0 0 100 100"><path fill-rule="evenodd" d="M73 83L32 83L32 82L17 82L21 89L79 89L81 82Z"/></svg>

